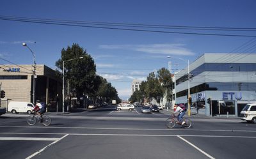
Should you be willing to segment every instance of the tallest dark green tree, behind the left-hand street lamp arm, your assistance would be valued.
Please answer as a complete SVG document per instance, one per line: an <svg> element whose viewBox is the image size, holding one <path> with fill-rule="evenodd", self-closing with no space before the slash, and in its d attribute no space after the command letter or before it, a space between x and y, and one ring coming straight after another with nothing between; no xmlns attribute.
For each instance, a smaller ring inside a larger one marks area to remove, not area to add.
<svg viewBox="0 0 256 159"><path fill-rule="evenodd" d="M83 59L69 59L83 57ZM65 82L69 82L71 91L76 96L81 96L83 93L92 93L99 87L99 80L96 80L96 66L93 58L79 47L77 43L73 43L72 47L61 50L61 59L56 61L56 66L63 70L63 61L65 62Z"/></svg>

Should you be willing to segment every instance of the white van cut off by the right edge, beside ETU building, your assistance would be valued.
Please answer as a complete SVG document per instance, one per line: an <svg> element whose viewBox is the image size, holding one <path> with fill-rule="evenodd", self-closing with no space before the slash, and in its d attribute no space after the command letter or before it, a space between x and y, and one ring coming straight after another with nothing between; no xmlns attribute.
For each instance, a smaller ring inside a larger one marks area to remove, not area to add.
<svg viewBox="0 0 256 159"><path fill-rule="evenodd" d="M245 105L240 117L248 123L256 123L256 103Z"/></svg>

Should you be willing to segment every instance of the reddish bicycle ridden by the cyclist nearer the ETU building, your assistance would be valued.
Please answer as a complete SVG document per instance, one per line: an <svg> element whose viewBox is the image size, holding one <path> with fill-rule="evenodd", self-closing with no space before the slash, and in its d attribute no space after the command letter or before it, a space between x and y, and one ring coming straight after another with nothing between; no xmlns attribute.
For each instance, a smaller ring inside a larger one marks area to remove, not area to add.
<svg viewBox="0 0 256 159"><path fill-rule="evenodd" d="M182 125L181 123L183 121L185 121L185 123ZM179 125L182 125L183 128L190 128L192 125L192 121L186 117L182 117L182 121L179 122L177 116L175 116L174 114L172 115L172 117L166 119L165 122L167 128L173 128L177 123L179 123Z"/></svg>

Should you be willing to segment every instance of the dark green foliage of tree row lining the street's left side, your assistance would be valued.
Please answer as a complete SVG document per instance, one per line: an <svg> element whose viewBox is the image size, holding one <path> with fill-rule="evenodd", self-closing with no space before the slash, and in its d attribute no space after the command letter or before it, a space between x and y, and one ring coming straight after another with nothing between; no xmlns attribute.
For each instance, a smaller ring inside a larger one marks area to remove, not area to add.
<svg viewBox="0 0 256 159"><path fill-rule="evenodd" d="M96 75L94 60L83 47L73 43L71 47L61 50L61 58L56 61L56 66L61 72L63 72L63 61L65 82L69 82L74 96L88 95L93 98L98 96L120 101L115 87L112 87L103 77ZM62 75L61 72L60 75Z"/></svg>

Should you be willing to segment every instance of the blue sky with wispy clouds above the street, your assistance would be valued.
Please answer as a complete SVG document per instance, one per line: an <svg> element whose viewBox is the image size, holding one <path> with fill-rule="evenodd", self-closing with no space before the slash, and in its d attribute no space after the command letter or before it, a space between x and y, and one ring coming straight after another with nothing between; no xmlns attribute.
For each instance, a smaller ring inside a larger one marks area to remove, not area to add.
<svg viewBox="0 0 256 159"><path fill-rule="evenodd" d="M256 1L253 0L3 0L0 5L0 17L255 28L255 8ZM116 87L122 99L131 96L132 79L145 80L148 73L162 67L168 68L170 59L166 56L176 56L193 62L204 53L232 52L252 40L252 37L152 33L8 20L0 20L0 26L0 56L4 59L16 64L33 63L31 52L22 47L25 42L35 52L37 64L55 68L55 62L61 56L61 49L78 43L95 60L97 73ZM168 31L256 35L255 31ZM253 48L250 51L256 52ZM173 58L172 63L172 67L178 69L187 65L177 58ZM0 64L8 63L0 60Z"/></svg>

